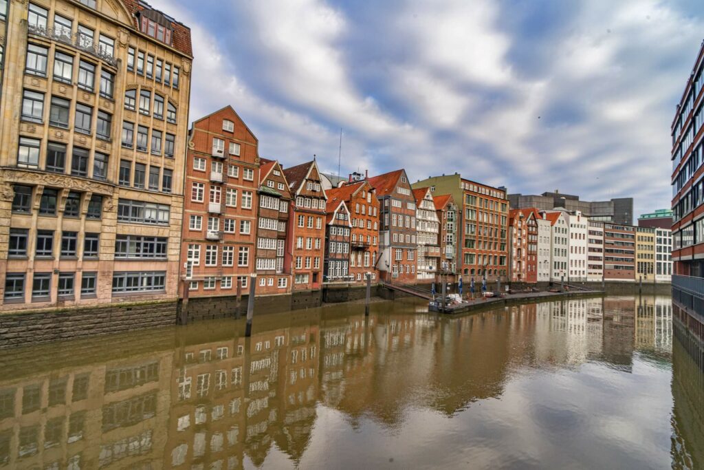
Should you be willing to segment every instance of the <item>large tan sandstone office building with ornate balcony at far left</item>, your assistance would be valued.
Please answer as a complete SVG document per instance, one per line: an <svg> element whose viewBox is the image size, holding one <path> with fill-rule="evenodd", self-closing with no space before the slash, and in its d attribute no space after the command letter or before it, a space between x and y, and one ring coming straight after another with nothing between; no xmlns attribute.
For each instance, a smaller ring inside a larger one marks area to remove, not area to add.
<svg viewBox="0 0 704 470"><path fill-rule="evenodd" d="M0 6L0 310L175 301L189 28L134 0Z"/></svg>

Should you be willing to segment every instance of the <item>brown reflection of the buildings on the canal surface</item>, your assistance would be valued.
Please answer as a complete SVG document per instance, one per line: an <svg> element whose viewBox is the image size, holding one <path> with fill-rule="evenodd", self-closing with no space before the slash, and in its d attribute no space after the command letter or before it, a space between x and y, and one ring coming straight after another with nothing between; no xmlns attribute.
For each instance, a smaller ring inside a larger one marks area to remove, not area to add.
<svg viewBox="0 0 704 470"><path fill-rule="evenodd" d="M353 428L372 419L394 432L410 406L453 416L500 397L526 367L598 361L628 373L634 352L670 361L667 298L577 299L457 319L415 308L266 315L252 338L243 321L207 321L1 352L0 467L238 469L262 465L274 447L297 463L318 406ZM675 345L672 454L701 464L701 443L692 443L704 431L704 384L688 357Z"/></svg>

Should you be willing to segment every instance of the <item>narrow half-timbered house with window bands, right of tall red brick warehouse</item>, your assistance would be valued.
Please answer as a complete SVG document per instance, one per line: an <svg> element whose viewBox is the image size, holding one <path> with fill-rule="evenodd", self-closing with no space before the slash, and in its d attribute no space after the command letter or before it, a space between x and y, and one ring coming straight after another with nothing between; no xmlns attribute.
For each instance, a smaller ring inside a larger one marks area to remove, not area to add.
<svg viewBox="0 0 704 470"><path fill-rule="evenodd" d="M260 160L257 247L255 268L257 295L291 292L291 262L284 253L289 241L291 190L284 171L275 160Z"/></svg>

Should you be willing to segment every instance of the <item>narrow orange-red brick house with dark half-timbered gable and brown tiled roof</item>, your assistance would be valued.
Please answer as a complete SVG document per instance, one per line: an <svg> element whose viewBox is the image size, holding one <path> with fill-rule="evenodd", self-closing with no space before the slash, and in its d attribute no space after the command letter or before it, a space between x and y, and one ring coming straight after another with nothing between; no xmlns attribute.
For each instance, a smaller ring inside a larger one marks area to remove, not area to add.
<svg viewBox="0 0 704 470"><path fill-rule="evenodd" d="M284 264L291 264L293 290L320 289L325 240L327 194L315 160L284 169L294 196L289 206L289 245Z"/></svg>

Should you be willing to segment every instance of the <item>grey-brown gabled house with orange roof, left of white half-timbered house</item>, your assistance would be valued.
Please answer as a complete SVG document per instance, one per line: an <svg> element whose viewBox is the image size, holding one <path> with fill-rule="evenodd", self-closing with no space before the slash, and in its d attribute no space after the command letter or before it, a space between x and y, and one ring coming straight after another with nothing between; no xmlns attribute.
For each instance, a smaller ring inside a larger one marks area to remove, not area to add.
<svg viewBox="0 0 704 470"><path fill-rule="evenodd" d="M379 256L375 266L384 280L415 283L415 197L406 170L368 179L379 199Z"/></svg>

